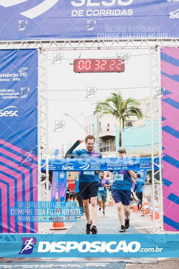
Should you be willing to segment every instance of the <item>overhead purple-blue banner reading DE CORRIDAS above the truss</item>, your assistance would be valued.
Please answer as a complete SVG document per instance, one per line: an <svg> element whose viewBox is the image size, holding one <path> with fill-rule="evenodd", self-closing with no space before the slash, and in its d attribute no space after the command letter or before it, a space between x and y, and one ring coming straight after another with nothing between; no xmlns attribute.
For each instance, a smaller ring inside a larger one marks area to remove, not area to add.
<svg viewBox="0 0 179 269"><path fill-rule="evenodd" d="M4 40L178 37L177 0L0 0Z"/></svg>

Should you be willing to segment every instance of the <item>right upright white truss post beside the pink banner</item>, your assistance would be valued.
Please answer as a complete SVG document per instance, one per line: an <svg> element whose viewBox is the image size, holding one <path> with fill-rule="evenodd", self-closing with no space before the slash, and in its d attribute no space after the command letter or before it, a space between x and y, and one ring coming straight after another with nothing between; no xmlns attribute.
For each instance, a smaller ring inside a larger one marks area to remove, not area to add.
<svg viewBox="0 0 179 269"><path fill-rule="evenodd" d="M152 232L156 234L157 232L163 232L161 95L157 96L156 94L157 92L156 89L159 89L161 87L160 51L158 47L149 48L149 65L150 65L150 109L151 109L151 146L152 146L152 207L153 207ZM158 101L156 101L154 97L156 97ZM158 133L156 129L158 129ZM154 151L158 152L157 156L155 157L154 157ZM156 162L157 158L159 159L159 163ZM154 164L159 168L156 172L154 171ZM157 174L159 174L159 180L156 179ZM155 219L156 213L159 213L159 219ZM159 221L161 221L161 228L157 227L157 223Z"/></svg>

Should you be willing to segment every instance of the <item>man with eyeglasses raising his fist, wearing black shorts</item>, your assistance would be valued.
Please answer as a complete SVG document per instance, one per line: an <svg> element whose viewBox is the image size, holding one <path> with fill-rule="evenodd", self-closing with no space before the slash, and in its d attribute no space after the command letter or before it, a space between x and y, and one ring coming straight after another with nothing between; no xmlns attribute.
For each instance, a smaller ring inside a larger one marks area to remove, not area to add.
<svg viewBox="0 0 179 269"><path fill-rule="evenodd" d="M87 135L85 138L85 149L74 150L78 145L80 145L83 140L78 139L77 142L67 151L67 158L102 158L101 152L94 149L95 137L94 135ZM79 171L79 192L83 200L84 214L87 219L86 233L97 234L96 220L98 216L97 209L97 195L99 187L99 171ZM92 208L92 221L90 219L89 212L89 198L91 198L91 208Z"/></svg>

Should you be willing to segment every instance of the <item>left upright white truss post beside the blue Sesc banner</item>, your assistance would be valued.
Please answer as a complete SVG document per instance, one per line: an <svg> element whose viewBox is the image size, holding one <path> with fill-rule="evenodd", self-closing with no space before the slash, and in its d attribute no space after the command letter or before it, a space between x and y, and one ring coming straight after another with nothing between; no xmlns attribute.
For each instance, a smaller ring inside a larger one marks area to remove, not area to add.
<svg viewBox="0 0 179 269"><path fill-rule="evenodd" d="M48 51L38 49L38 201L48 201ZM45 160L41 165L41 158ZM41 168L46 166L46 174ZM41 181L45 175L45 180ZM46 185L44 184L46 183ZM48 233L48 223L38 223L38 233Z"/></svg>

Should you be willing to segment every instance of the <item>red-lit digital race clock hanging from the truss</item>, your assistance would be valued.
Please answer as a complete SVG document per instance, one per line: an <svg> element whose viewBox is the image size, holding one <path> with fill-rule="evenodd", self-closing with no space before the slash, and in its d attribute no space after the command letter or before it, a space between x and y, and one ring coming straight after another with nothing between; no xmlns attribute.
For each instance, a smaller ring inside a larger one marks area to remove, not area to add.
<svg viewBox="0 0 179 269"><path fill-rule="evenodd" d="M124 59L75 59L73 71L89 72L124 72Z"/></svg>

